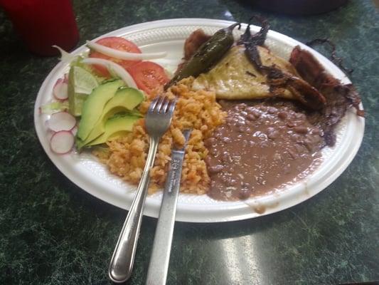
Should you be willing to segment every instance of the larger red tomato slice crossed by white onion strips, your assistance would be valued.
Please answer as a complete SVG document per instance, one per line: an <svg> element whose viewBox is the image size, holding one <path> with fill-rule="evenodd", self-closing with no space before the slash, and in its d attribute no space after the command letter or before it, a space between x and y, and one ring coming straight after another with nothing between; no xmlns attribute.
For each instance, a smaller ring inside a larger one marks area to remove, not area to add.
<svg viewBox="0 0 379 285"><path fill-rule="evenodd" d="M124 38L120 38L119 36L108 36L107 38L100 38L100 40L96 41L96 43L101 44L102 46L107 46L109 48L114 48L119 51L128 51L129 53L141 53L141 50L131 41L127 41ZM103 58L107 59L109 61L114 61L115 63L118 63L123 68L128 68L130 66L134 66L134 64L139 63L140 61L125 61L118 58L112 58L110 56L105 56L102 53L99 53L97 51L91 51L90 58ZM104 66L98 66L98 65L92 65L95 68L95 71L103 77L110 77L110 73Z"/></svg>

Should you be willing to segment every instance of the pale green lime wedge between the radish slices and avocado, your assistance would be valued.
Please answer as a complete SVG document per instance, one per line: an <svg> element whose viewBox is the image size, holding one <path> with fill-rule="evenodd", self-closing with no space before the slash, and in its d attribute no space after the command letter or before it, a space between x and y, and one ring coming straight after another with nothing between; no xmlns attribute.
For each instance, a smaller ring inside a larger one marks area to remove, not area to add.
<svg viewBox="0 0 379 285"><path fill-rule="evenodd" d="M68 73L68 105L74 116L82 114L82 105L88 94L99 86L95 76L80 66L71 66Z"/></svg>

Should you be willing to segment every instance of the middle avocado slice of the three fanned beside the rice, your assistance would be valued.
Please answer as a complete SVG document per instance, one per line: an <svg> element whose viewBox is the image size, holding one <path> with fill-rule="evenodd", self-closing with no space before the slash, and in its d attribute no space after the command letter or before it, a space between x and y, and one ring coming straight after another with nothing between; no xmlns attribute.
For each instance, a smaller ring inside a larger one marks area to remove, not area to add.
<svg viewBox="0 0 379 285"><path fill-rule="evenodd" d="M105 104L102 116L97 120L90 135L84 140L84 145L87 145L88 142L95 140L95 138L105 132L105 123L108 118L112 118L113 115L120 112L133 110L143 100L144 93L140 90L131 87L119 88L116 94L114 94L114 97Z"/></svg>

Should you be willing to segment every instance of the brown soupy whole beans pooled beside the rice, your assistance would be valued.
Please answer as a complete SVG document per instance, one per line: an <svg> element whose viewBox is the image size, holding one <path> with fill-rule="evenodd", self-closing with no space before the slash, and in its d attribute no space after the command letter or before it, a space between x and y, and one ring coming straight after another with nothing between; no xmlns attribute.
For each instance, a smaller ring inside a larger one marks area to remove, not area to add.
<svg viewBox="0 0 379 285"><path fill-rule="evenodd" d="M304 178L321 160L321 130L288 105L224 105L225 124L205 140L214 199L247 199Z"/></svg>

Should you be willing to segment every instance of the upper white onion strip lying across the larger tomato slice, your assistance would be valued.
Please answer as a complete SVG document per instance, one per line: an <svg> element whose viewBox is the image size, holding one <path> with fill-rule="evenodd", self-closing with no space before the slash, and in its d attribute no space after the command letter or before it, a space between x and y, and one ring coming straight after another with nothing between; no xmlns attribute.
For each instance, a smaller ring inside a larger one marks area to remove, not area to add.
<svg viewBox="0 0 379 285"><path fill-rule="evenodd" d="M128 53L127 51L119 51L108 46L102 46L99 43L94 43L93 41L87 41L87 46L94 51L104 54L105 56L110 56L112 58L126 59L127 61L137 61L155 58L164 58L167 56L166 52L161 53Z"/></svg>

